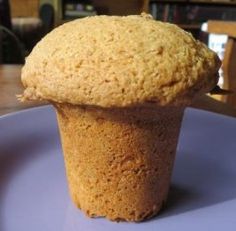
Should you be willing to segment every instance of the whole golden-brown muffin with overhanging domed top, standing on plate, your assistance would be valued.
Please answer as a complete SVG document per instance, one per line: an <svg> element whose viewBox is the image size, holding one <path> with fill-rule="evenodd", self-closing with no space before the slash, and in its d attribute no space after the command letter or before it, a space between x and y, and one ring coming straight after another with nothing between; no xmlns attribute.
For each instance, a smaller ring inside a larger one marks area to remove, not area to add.
<svg viewBox="0 0 236 231"><path fill-rule="evenodd" d="M218 81L217 55L150 15L54 29L22 69L22 100L56 109L72 200L90 217L142 221L166 202L183 111Z"/></svg>

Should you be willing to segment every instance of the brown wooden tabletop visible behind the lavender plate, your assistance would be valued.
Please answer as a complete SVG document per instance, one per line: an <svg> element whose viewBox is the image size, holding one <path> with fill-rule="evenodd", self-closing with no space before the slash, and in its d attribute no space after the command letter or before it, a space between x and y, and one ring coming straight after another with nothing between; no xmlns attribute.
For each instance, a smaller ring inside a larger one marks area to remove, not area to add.
<svg viewBox="0 0 236 231"><path fill-rule="evenodd" d="M0 115L45 104L21 103L17 100L16 95L23 92L20 81L21 67L20 65L0 65ZM236 109L208 96L197 100L193 107L236 117Z"/></svg>

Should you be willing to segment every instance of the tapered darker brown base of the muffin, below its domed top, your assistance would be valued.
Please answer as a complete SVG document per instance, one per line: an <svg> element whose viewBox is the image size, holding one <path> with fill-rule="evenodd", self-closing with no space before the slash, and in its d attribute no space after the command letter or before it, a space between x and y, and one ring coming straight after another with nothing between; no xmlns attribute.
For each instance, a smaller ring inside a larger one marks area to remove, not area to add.
<svg viewBox="0 0 236 231"><path fill-rule="evenodd" d="M55 106L74 203L114 221L156 215L167 199L183 110Z"/></svg>

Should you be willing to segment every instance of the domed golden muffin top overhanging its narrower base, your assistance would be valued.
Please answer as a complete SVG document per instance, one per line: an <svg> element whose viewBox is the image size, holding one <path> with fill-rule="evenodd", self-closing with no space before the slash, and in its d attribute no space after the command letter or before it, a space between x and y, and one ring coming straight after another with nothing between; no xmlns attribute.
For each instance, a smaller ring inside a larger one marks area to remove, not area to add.
<svg viewBox="0 0 236 231"><path fill-rule="evenodd" d="M22 69L22 100L127 107L187 105L214 88L220 60L150 15L93 16L47 34Z"/></svg>

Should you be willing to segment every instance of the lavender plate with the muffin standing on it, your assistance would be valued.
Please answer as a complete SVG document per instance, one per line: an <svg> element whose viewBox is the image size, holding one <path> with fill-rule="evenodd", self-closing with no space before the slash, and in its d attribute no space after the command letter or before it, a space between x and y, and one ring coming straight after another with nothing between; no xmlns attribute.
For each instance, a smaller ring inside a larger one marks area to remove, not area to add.
<svg viewBox="0 0 236 231"><path fill-rule="evenodd" d="M236 119L187 109L169 200L142 223L89 219L68 195L49 106L0 118L1 231L236 230Z"/></svg>

